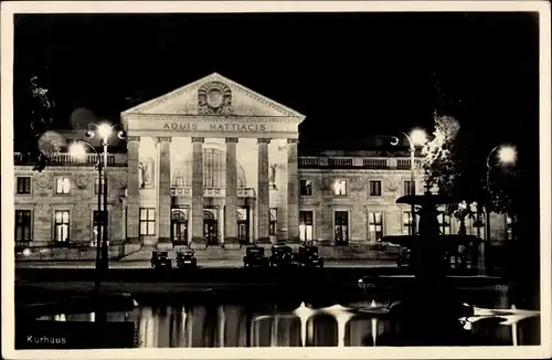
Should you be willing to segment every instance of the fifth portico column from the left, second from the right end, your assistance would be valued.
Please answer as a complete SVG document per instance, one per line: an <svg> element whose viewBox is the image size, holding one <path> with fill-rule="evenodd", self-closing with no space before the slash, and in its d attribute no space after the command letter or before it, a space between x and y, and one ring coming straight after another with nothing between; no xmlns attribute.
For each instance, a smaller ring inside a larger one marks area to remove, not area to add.
<svg viewBox="0 0 552 360"><path fill-rule="evenodd" d="M268 144L270 139L257 139L258 148L258 183L257 183L257 216L258 216L258 235L257 242L269 243L270 236L270 203L268 189Z"/></svg>

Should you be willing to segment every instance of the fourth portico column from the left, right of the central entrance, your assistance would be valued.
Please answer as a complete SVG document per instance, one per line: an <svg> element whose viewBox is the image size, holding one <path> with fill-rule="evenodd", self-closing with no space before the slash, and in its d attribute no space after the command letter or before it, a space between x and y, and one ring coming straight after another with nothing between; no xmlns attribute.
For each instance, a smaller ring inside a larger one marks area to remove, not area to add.
<svg viewBox="0 0 552 360"><path fill-rule="evenodd" d="M226 181L224 208L224 246L237 246L237 138L226 138Z"/></svg>

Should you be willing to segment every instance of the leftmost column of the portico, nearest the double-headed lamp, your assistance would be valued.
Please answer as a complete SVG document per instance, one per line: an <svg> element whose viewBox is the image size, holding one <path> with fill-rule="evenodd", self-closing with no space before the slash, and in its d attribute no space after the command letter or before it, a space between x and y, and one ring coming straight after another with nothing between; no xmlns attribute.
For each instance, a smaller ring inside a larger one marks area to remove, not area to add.
<svg viewBox="0 0 552 360"><path fill-rule="evenodd" d="M127 241L139 242L140 192L138 184L138 151L140 148L140 137L129 136L127 141Z"/></svg>

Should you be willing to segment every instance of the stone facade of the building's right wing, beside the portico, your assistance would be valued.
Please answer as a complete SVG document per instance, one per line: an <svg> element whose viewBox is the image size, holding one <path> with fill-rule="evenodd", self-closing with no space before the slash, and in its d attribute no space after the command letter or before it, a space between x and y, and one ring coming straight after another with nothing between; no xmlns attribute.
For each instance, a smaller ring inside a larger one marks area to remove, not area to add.
<svg viewBox="0 0 552 360"><path fill-rule="evenodd" d="M306 163L305 160L311 158L305 157L301 160ZM393 160L386 159L388 162ZM420 174L415 179L416 194L422 194L423 179ZM299 181L304 183L311 181L311 194L300 195L299 211L311 213L312 240L320 244L339 244L335 234L336 212L347 213L347 230L344 230L349 240L347 244L373 243L381 236L410 233L410 223L406 219L410 216L411 207L396 203L400 197L408 194L410 170L309 167L300 169ZM344 194L336 194L337 181L344 181ZM375 194L371 194L371 182L380 184L381 193L375 191ZM381 220L374 219L373 213L380 213ZM454 234L460 230L460 222L454 216L445 216L440 221L444 233ZM491 214L490 222L491 239L508 239L505 215ZM479 227L478 232L475 224L475 220L466 221L467 233L485 237L485 227ZM381 230L374 231L376 230L374 226L379 225ZM301 236L301 240L305 240L305 236Z"/></svg>

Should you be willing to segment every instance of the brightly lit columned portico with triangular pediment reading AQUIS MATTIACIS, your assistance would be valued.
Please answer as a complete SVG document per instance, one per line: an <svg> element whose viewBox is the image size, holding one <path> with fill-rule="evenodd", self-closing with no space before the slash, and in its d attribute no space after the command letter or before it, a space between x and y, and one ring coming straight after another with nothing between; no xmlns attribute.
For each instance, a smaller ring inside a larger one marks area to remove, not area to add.
<svg viewBox="0 0 552 360"><path fill-rule="evenodd" d="M298 242L304 115L212 74L121 118L127 241L229 248Z"/></svg>

